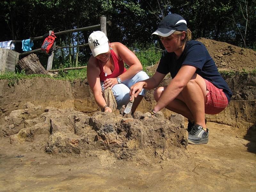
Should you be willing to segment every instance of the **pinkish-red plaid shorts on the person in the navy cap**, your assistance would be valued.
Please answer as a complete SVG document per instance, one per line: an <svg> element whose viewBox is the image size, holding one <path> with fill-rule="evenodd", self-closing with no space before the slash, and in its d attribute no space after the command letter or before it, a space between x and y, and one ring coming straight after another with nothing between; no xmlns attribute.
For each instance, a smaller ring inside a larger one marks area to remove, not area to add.
<svg viewBox="0 0 256 192"><path fill-rule="evenodd" d="M211 82L204 79L207 93L207 101L204 104L206 114L215 115L223 111L228 106L228 99L222 89L215 87Z"/></svg>

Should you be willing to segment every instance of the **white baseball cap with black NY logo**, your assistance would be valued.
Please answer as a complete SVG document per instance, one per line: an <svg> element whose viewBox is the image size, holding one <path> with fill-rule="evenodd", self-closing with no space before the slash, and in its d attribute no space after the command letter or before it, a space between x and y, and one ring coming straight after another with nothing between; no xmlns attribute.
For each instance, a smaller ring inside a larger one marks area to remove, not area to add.
<svg viewBox="0 0 256 192"><path fill-rule="evenodd" d="M108 37L102 31L93 31L88 38L93 57L109 50Z"/></svg>

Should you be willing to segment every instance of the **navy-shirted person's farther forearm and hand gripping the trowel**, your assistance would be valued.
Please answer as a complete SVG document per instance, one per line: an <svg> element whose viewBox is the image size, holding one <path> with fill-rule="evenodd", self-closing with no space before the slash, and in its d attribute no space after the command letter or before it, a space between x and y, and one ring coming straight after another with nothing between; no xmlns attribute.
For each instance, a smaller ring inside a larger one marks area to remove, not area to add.
<svg viewBox="0 0 256 192"><path fill-rule="evenodd" d="M133 96L136 98L141 92L142 88L147 90L156 88L161 83L161 81L164 79L165 76L166 76L165 74L162 74L156 71L156 73L151 78L146 79L144 81L140 81L132 85L130 90L130 95L131 95L130 100L132 100Z"/></svg>

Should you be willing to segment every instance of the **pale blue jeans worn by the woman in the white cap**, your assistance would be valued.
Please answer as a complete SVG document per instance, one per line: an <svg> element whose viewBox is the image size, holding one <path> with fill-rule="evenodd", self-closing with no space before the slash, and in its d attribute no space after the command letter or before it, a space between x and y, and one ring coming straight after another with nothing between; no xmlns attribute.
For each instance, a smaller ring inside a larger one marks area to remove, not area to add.
<svg viewBox="0 0 256 192"><path fill-rule="evenodd" d="M127 105L130 100L130 88L132 85L139 81L143 81L145 79L148 79L149 76L144 71L140 71L135 76L133 76L130 79L127 79L126 81L116 84L112 87L113 95L115 96L116 103L117 103L117 109L120 109L123 105ZM103 81L100 82L102 91L104 90L103 87ZM146 90L142 89L139 95L145 95Z"/></svg>

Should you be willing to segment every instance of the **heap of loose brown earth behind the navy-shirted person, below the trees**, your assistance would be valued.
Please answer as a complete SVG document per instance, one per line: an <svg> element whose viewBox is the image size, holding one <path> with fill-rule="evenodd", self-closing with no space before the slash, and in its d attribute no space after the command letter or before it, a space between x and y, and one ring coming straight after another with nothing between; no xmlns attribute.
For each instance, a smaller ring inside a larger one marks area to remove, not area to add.
<svg viewBox="0 0 256 192"><path fill-rule="evenodd" d="M226 71L252 71L256 69L256 52L252 49L244 49L224 42L212 39L199 38L196 41L202 42L210 53L219 70ZM148 71L155 73L158 63L148 68Z"/></svg>

